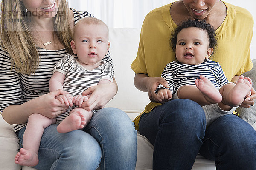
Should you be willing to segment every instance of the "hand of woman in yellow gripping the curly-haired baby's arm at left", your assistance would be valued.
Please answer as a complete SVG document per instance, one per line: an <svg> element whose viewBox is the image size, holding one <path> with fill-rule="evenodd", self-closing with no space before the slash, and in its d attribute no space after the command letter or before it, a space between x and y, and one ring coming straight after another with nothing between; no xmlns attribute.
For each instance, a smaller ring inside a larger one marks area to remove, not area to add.
<svg viewBox="0 0 256 170"><path fill-rule="evenodd" d="M141 91L147 91L148 92L148 97L151 102L157 102L161 103L162 100L160 101L157 99L157 94L155 93L155 90L157 89L157 86L161 84L166 88L169 88L170 86L168 85L168 82L163 79L162 77L148 77L146 74L135 74L134 77L134 85L137 89Z"/></svg>

